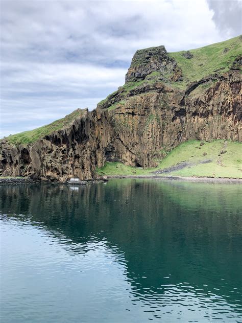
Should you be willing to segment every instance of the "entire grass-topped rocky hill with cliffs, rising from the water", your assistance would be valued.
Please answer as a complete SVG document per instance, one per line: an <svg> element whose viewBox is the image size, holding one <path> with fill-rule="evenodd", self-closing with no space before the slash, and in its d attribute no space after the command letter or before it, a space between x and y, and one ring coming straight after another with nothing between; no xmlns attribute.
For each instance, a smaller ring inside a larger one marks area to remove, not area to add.
<svg viewBox="0 0 242 323"><path fill-rule="evenodd" d="M138 50L125 84L95 110L3 139L0 174L242 177L241 53L241 36L177 53Z"/></svg>

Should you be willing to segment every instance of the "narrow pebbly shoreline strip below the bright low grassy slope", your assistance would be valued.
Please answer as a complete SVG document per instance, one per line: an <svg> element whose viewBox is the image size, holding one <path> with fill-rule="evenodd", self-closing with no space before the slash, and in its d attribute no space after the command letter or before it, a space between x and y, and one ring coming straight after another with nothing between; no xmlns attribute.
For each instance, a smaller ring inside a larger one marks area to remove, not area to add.
<svg viewBox="0 0 242 323"><path fill-rule="evenodd" d="M228 177L182 177L182 176L156 176L156 175L107 175L108 179L112 178L150 178L150 179L166 179L166 180L182 180L193 182L223 182L223 183L242 183L242 178L228 178Z"/></svg>

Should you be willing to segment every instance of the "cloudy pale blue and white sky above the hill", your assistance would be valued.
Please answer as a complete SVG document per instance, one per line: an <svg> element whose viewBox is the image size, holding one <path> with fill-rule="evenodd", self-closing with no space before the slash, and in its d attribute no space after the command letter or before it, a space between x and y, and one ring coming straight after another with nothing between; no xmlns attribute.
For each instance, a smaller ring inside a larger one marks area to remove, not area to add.
<svg viewBox="0 0 242 323"><path fill-rule="evenodd" d="M95 108L124 84L137 49L238 36L241 1L0 0L0 137Z"/></svg>

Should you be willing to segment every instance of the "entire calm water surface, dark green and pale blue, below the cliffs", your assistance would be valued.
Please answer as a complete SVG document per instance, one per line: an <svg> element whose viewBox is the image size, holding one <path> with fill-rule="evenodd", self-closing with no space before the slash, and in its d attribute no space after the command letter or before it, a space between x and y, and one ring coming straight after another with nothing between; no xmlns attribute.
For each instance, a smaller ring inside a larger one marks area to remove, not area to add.
<svg viewBox="0 0 242 323"><path fill-rule="evenodd" d="M18 322L241 322L242 186L0 187L1 309Z"/></svg>

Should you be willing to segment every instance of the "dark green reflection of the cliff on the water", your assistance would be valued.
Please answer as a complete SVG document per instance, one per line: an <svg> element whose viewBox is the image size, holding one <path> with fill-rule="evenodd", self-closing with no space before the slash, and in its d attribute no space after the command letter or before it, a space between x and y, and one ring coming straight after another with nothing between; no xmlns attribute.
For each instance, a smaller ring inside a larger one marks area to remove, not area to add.
<svg viewBox="0 0 242 323"><path fill-rule="evenodd" d="M90 241L122 256L133 302L152 319L172 297L171 312L175 302L182 306L189 292L202 297L199 308L221 303L224 313L208 317L229 321L241 315L241 192L237 184L141 179L8 186L0 189L0 210L49 232L70 257L87 252Z"/></svg>

